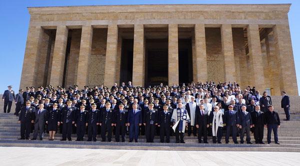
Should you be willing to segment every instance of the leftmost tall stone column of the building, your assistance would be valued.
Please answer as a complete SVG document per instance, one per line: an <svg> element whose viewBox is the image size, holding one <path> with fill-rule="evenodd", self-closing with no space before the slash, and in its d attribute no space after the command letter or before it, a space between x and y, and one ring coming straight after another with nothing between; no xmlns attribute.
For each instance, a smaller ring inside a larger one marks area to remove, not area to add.
<svg viewBox="0 0 300 166"><path fill-rule="evenodd" d="M29 26L24 54L20 89L35 86L37 59L42 41L43 29L40 26Z"/></svg>

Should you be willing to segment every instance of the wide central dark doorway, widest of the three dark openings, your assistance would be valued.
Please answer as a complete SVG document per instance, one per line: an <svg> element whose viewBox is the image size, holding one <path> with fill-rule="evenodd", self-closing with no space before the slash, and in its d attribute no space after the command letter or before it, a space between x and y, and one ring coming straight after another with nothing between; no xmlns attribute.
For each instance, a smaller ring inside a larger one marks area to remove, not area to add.
<svg viewBox="0 0 300 166"><path fill-rule="evenodd" d="M146 39L145 85L167 85L167 39Z"/></svg>

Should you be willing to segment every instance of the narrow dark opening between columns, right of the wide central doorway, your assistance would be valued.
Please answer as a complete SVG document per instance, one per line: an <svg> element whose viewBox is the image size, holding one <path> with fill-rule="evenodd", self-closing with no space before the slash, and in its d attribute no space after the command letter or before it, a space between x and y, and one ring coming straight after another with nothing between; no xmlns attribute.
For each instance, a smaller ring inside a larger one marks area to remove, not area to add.
<svg viewBox="0 0 300 166"><path fill-rule="evenodd" d="M191 39L178 39L179 84L192 81Z"/></svg>

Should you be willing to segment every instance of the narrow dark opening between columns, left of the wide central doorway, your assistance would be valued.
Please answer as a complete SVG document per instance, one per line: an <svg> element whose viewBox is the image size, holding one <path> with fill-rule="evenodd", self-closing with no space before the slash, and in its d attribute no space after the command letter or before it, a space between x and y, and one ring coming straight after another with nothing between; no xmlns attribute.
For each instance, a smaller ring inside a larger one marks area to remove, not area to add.
<svg viewBox="0 0 300 166"><path fill-rule="evenodd" d="M132 81L133 39L122 39L120 83Z"/></svg>

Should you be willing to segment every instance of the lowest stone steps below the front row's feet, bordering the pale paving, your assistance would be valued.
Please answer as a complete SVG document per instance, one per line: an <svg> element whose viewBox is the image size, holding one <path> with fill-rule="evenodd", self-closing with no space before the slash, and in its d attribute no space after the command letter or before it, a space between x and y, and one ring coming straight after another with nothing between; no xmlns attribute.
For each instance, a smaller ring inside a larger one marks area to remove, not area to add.
<svg viewBox="0 0 300 166"><path fill-rule="evenodd" d="M81 149L116 149L116 150L165 150L165 151L268 151L300 152L295 145L261 144L175 144L175 143L115 143L115 142L75 142L75 141L32 141L0 140L3 147L43 147L43 148L81 148Z"/></svg>

